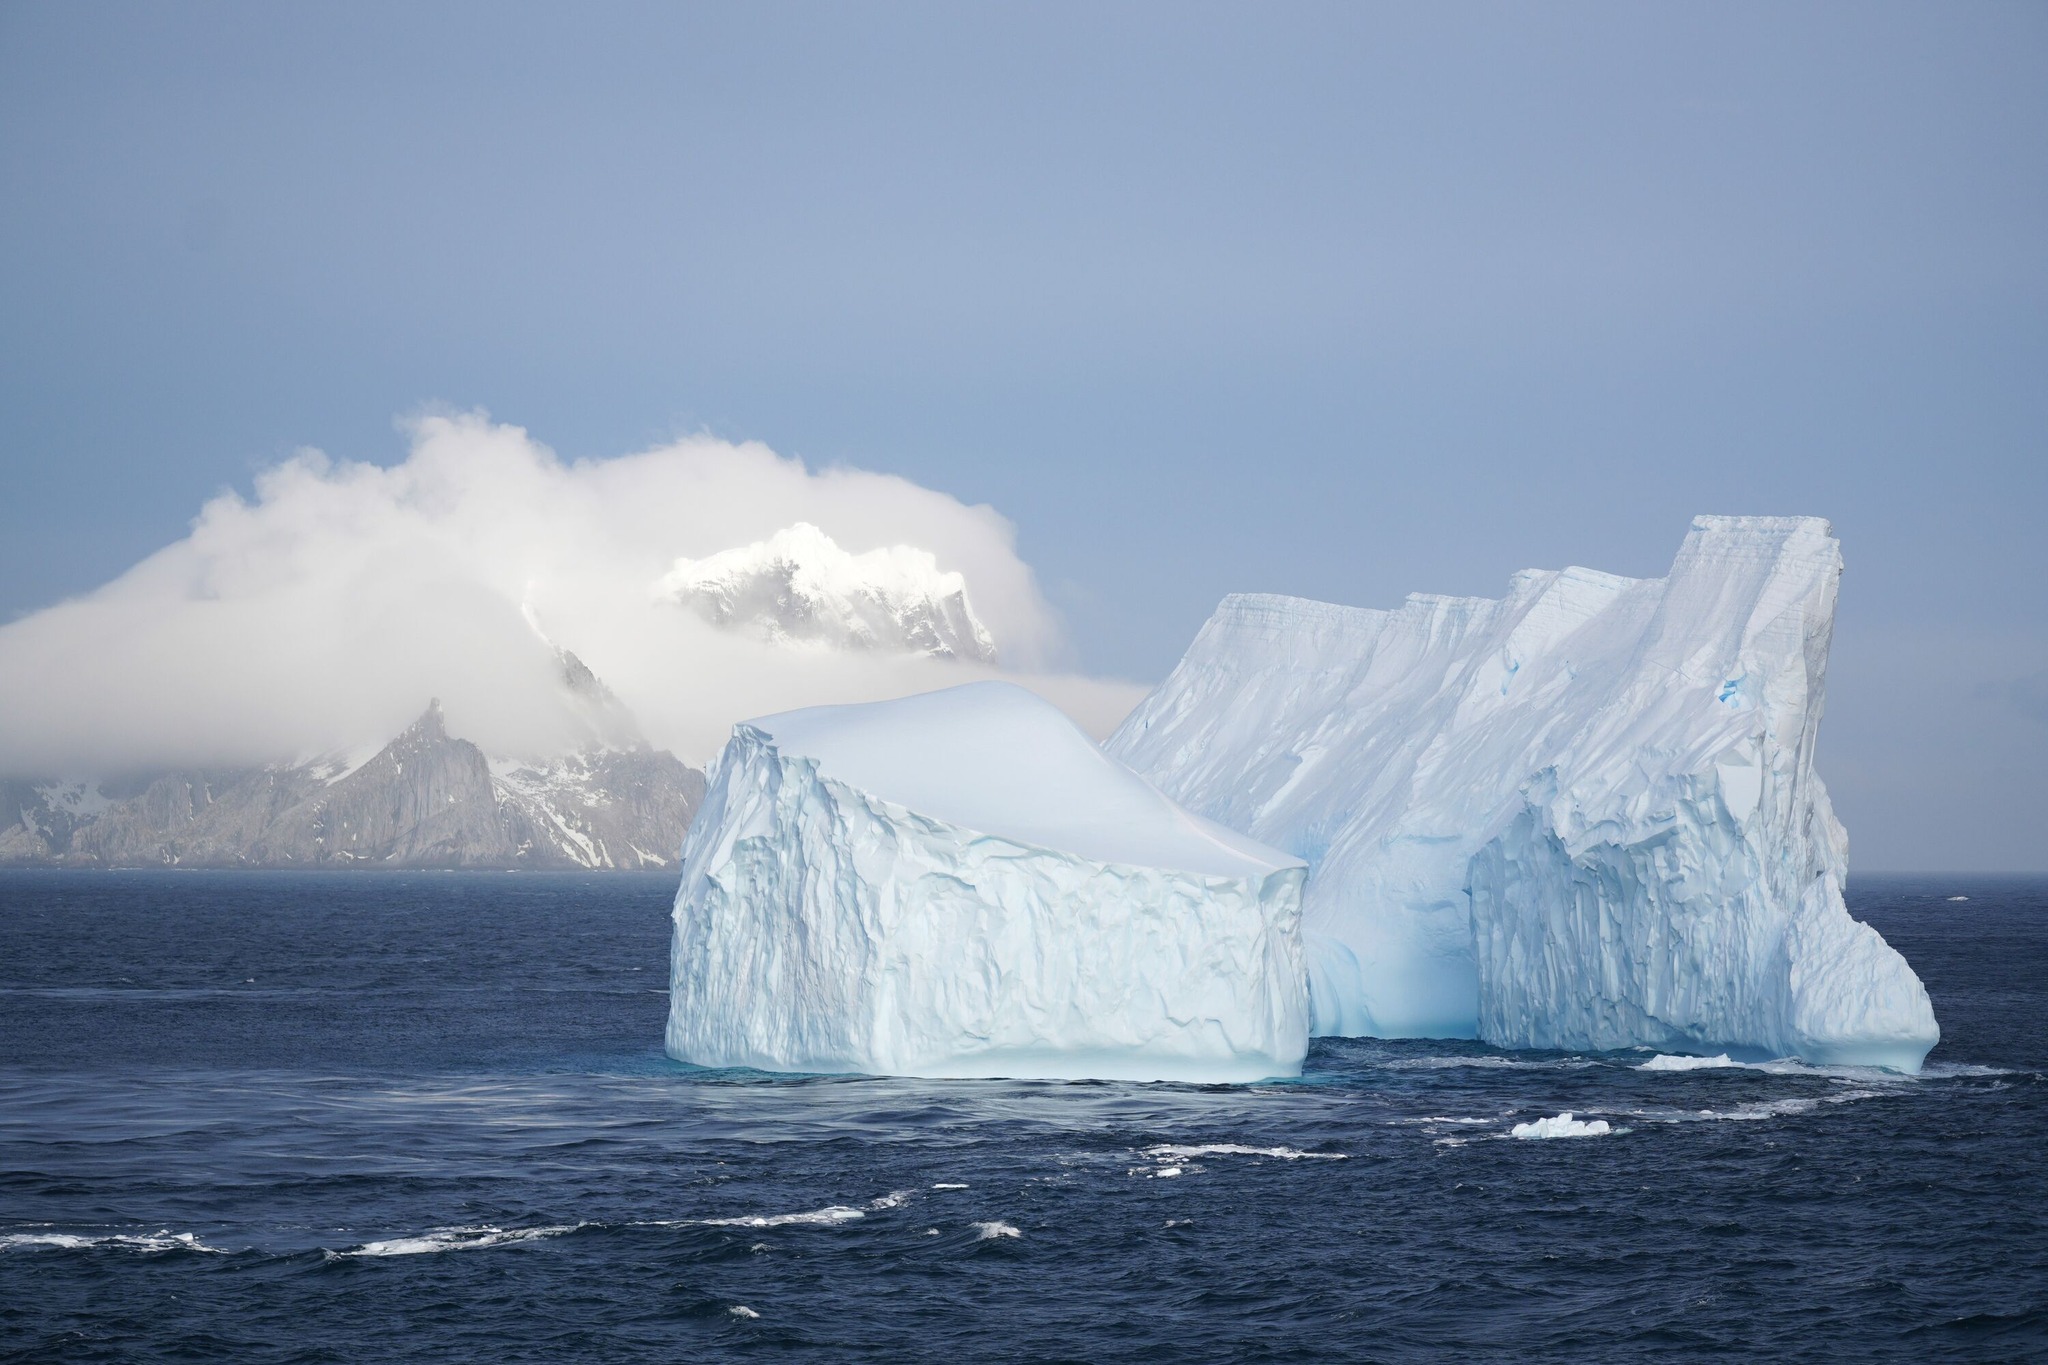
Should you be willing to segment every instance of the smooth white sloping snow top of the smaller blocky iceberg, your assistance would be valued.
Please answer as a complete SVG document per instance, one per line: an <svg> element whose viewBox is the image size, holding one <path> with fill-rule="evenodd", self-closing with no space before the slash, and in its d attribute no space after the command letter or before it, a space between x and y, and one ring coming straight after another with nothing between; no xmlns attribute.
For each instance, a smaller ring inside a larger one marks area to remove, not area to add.
<svg viewBox="0 0 2048 1365"><path fill-rule="evenodd" d="M1266 876L1303 860L1182 810L1006 681L750 720L784 757L961 829L1104 864Z"/></svg>

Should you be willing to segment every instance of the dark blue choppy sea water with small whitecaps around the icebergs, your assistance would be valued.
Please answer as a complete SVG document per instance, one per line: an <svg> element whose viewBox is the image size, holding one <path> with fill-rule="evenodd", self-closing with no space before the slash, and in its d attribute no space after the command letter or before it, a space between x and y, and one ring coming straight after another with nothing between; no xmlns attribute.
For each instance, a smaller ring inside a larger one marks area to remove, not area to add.
<svg viewBox="0 0 2048 1365"><path fill-rule="evenodd" d="M2040 1357L2048 882L1849 898L1919 1078L1188 1087L678 1066L662 878L4 874L0 1359Z"/></svg>

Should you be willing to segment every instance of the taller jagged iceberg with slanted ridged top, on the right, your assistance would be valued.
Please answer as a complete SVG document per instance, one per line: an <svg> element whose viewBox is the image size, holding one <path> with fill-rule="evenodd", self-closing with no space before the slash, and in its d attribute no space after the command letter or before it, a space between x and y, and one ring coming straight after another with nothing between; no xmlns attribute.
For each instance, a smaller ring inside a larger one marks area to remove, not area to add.
<svg viewBox="0 0 2048 1365"><path fill-rule="evenodd" d="M1839 577L1823 520L1698 518L1663 579L1227 598L1108 749L1311 864L1319 1033L1917 1070L1812 769Z"/></svg>

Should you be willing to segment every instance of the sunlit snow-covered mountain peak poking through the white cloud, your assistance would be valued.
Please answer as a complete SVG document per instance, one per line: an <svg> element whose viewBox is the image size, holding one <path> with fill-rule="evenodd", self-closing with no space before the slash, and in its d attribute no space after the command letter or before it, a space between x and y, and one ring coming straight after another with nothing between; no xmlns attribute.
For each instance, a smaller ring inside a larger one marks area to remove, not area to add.
<svg viewBox="0 0 2048 1365"><path fill-rule="evenodd" d="M909 544L852 555L809 522L707 559L678 559L655 593L778 643L995 661L967 579Z"/></svg>

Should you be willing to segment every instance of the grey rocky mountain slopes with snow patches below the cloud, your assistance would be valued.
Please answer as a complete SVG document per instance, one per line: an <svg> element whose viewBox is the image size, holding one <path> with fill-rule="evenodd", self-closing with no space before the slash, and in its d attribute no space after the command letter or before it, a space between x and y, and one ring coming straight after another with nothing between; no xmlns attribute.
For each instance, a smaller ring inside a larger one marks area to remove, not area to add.
<svg viewBox="0 0 2048 1365"><path fill-rule="evenodd" d="M674 868L702 796L700 772L643 743L489 759L434 702L360 763L0 780L0 864Z"/></svg>

